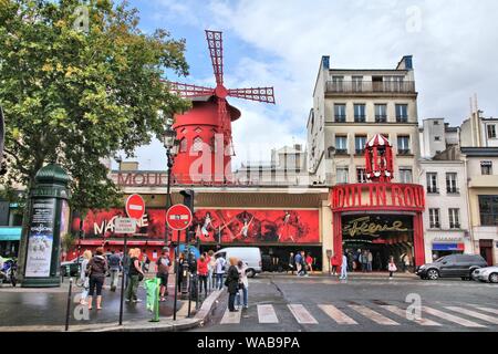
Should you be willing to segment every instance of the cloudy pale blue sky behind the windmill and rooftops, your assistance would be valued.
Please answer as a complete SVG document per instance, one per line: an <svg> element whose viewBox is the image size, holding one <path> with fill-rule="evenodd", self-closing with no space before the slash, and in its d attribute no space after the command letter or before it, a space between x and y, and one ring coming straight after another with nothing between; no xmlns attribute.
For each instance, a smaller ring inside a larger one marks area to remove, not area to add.
<svg viewBox="0 0 498 354"><path fill-rule="evenodd" d="M271 148L305 144L307 121L322 55L331 67L394 69L413 55L418 118L459 125L477 94L486 116L498 116L496 0L132 0L141 29L187 41L188 77L215 86L204 30L224 32L225 84L274 86L276 105L229 98L241 163L269 160ZM141 169L165 169L159 142L139 147ZM114 164L116 166L116 164Z"/></svg>

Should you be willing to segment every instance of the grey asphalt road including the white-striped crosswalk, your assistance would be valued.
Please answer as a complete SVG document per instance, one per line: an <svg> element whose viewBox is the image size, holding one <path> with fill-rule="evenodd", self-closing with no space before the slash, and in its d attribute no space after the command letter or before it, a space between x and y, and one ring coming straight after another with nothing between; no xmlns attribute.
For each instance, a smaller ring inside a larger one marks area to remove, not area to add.
<svg viewBox="0 0 498 354"><path fill-rule="evenodd" d="M261 275L249 282L248 310L229 313L227 301L220 298L211 320L194 331L498 331L498 285L459 279Z"/></svg>

